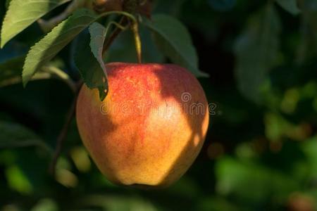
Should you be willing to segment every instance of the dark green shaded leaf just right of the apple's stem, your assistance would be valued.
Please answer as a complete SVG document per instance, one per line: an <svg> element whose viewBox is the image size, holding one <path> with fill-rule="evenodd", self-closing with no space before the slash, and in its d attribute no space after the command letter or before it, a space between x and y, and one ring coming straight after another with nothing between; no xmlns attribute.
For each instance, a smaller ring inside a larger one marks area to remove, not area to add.
<svg viewBox="0 0 317 211"><path fill-rule="evenodd" d="M143 23L154 32L154 40L162 53L197 77L208 77L198 68L197 52L185 26L169 15L153 15L151 20Z"/></svg>

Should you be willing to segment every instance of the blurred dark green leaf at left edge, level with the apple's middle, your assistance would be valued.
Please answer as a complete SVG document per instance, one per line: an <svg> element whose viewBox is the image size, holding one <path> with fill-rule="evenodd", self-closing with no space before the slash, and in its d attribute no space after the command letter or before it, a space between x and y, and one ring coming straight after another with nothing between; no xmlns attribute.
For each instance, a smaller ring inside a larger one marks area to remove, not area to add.
<svg viewBox="0 0 317 211"><path fill-rule="evenodd" d="M40 146L51 151L39 136L20 124L0 120L0 131L0 148Z"/></svg>

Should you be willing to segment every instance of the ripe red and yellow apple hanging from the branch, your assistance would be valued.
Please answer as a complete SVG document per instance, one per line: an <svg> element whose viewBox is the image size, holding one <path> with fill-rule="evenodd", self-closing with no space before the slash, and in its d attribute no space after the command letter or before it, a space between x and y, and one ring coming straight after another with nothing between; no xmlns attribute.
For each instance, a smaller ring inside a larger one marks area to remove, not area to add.
<svg viewBox="0 0 317 211"><path fill-rule="evenodd" d="M204 143L204 90L178 65L109 63L106 69L104 101L85 85L77 98L77 127L87 151L115 184L169 186Z"/></svg>

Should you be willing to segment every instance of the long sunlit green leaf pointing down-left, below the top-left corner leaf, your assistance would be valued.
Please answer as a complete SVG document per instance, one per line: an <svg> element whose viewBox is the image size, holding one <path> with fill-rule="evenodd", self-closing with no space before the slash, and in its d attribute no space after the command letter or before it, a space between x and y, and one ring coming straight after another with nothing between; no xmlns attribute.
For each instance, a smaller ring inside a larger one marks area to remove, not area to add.
<svg viewBox="0 0 317 211"><path fill-rule="evenodd" d="M87 9L75 11L67 20L54 27L43 39L35 46L32 46L23 67L23 85L30 81L32 76L42 65L49 62L56 54L61 51L77 34L96 20L98 15Z"/></svg>

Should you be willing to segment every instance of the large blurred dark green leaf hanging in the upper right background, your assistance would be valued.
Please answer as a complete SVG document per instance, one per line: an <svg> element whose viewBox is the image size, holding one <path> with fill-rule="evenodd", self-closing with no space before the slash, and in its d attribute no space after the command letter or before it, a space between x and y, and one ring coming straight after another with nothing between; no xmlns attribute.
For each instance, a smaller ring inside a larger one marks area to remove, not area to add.
<svg viewBox="0 0 317 211"><path fill-rule="evenodd" d="M268 71L277 63L280 42L280 19L269 4L252 17L247 29L235 43L235 75L240 92L249 100L261 102L261 85Z"/></svg>

